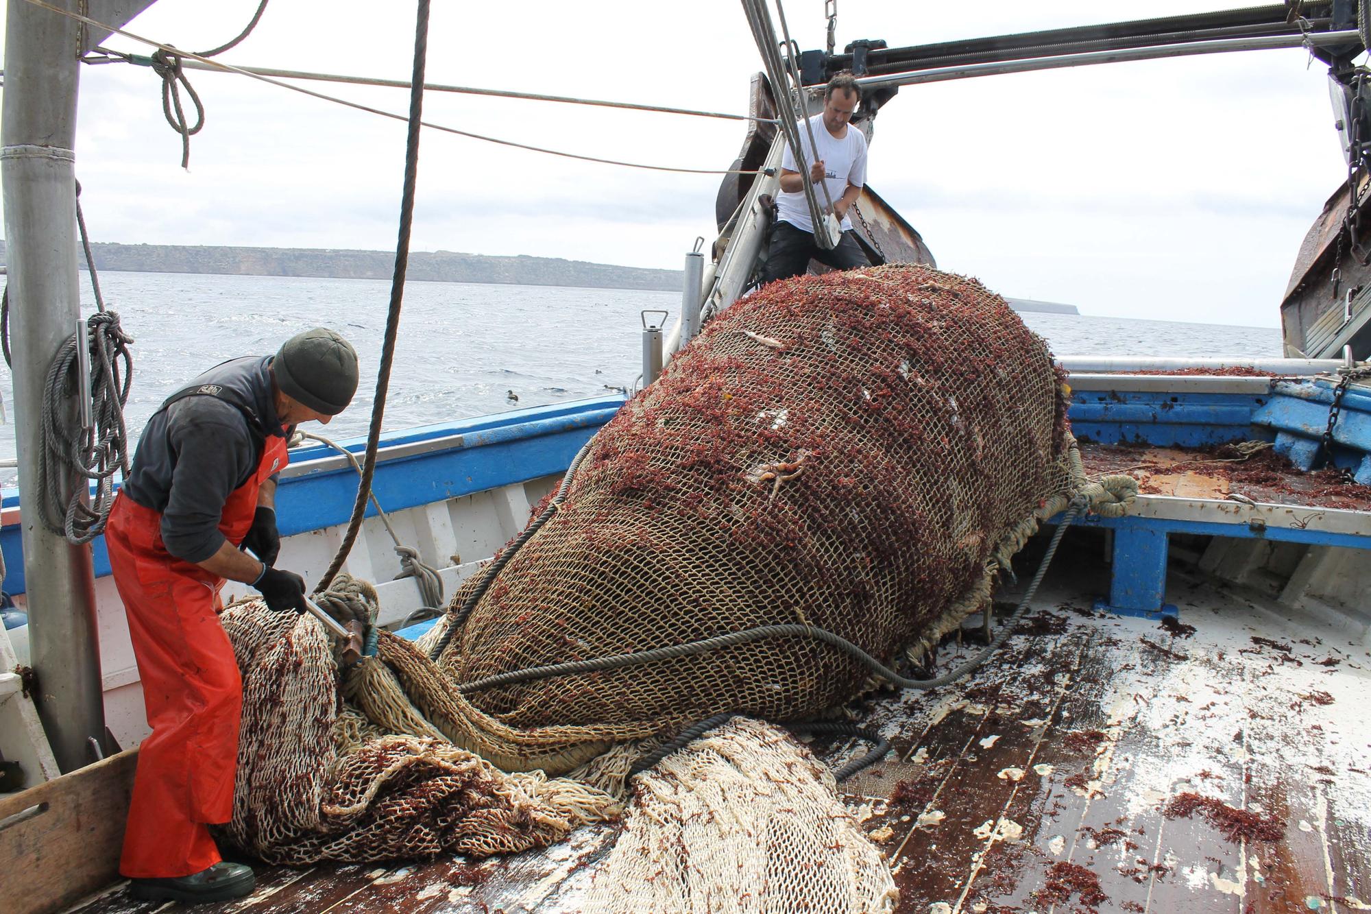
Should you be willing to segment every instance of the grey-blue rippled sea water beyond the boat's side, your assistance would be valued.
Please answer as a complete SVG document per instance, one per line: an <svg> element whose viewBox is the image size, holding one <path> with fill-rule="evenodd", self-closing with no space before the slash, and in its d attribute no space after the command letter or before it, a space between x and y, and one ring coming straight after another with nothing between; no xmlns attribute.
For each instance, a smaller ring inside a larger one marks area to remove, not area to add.
<svg viewBox="0 0 1371 914"><path fill-rule="evenodd" d="M352 405L328 428L310 428L335 439L366 434L389 281L106 272L100 285L106 306L119 313L134 339L134 382L125 409L130 436L137 436L169 394L206 368L274 353L291 335L318 325L337 329L356 347L362 384ZM88 284L82 301L86 309L95 307ZM679 307L679 292L409 283L383 427L399 430L632 388L642 362L642 313L665 310L675 320ZM1275 328L1023 317L1058 355L1281 354ZM12 383L8 372L0 375L0 395L10 412L10 421L0 427L0 460L12 461ZM3 484L15 484L15 478L14 469L0 469Z"/></svg>

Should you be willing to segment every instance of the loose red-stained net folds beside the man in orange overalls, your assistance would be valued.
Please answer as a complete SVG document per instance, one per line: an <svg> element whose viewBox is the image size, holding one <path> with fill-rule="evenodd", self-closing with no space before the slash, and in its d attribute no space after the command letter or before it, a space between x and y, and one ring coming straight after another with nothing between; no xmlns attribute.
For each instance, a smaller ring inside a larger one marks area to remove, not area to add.
<svg viewBox="0 0 1371 914"><path fill-rule="evenodd" d="M376 590L339 575L335 598L376 616ZM260 600L221 613L243 674L228 837L273 863L487 856L543 847L616 812L599 790L506 774L414 715L367 657L339 694L337 646L311 618Z"/></svg>

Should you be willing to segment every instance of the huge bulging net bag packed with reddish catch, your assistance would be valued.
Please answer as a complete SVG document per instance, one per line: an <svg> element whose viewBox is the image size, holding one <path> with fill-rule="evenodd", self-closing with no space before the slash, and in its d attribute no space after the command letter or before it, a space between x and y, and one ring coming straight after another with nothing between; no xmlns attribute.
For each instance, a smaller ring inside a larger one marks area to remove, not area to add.
<svg viewBox="0 0 1371 914"><path fill-rule="evenodd" d="M869 670L812 637L458 683L798 623L891 661L986 605L1073 483L1045 343L979 281L886 266L773 283L595 436L565 501L402 675L461 745L570 770L721 711L810 718ZM463 618L465 613L465 618ZM437 675L439 678L435 678Z"/></svg>

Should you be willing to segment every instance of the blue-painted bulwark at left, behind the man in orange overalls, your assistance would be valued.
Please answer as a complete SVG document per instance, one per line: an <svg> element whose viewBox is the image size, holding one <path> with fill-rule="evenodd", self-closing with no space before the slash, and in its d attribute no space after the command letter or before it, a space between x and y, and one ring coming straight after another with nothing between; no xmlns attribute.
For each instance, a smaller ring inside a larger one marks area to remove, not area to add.
<svg viewBox="0 0 1371 914"><path fill-rule="evenodd" d="M381 435L383 450L443 441L430 452L377 462L372 490L388 512L404 511L563 472L581 445L622 405L620 395L596 397ZM366 450L363 438L339 443L358 454ZM303 464L333 454L336 452L324 445L299 447L291 452L291 462ZM281 535L345 523L352 513L356 483L358 475L351 467L282 478L276 495ZM19 491L5 489L4 506L18 504ZM367 505L366 513L373 516L376 509ZM104 538L97 538L92 548L96 576L110 574ZM0 550L8 571L5 593L23 593L23 546L18 526L0 530Z"/></svg>

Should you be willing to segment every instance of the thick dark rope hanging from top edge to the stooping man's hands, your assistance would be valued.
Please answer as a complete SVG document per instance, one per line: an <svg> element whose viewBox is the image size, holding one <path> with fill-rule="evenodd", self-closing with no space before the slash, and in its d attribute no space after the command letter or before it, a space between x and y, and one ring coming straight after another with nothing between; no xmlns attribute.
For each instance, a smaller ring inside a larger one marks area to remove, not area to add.
<svg viewBox="0 0 1371 914"><path fill-rule="evenodd" d="M409 133L404 141L404 189L400 195L400 229L395 246L395 274L391 277L391 306L385 316L385 339L381 343L381 366L376 373L376 395L372 401L372 425L366 432L366 458L362 464L362 480L356 487L356 502L348 519L347 532L339 545L337 554L329 563L315 593L328 589L333 575L352 552L356 532L366 513L367 497L372 494L372 478L376 475L376 450L381 442L381 419L385 414L385 395L391 387L391 365L395 361L395 339L400 331L400 303L404 299L404 273L410 259L410 228L414 224L414 188L420 170L420 125L424 113L424 69L428 62L429 0L418 0L414 26L414 74L410 80Z"/></svg>

